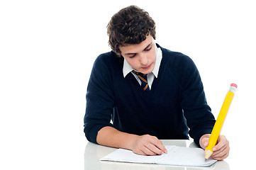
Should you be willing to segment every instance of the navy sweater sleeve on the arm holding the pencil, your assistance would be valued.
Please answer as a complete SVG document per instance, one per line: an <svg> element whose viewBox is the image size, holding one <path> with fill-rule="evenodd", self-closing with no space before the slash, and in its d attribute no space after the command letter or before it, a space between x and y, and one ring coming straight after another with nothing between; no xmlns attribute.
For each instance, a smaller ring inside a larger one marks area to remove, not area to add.
<svg viewBox="0 0 256 170"><path fill-rule="evenodd" d="M200 137L211 133L215 118L206 102L204 87L196 65L189 57L182 62L182 109L187 119L189 135L199 146ZM200 146L199 146L200 147Z"/></svg>

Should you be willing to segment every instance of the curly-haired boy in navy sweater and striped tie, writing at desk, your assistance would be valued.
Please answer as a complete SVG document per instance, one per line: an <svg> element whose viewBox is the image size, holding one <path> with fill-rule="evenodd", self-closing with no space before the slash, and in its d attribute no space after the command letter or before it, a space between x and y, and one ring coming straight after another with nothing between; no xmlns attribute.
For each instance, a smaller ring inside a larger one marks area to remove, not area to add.
<svg viewBox="0 0 256 170"><path fill-rule="evenodd" d="M155 155L167 152L160 140L190 135L205 149L215 119L194 62L156 44L155 22L138 6L113 15L107 33L112 51L97 57L87 87L87 140ZM213 151L228 157L225 136Z"/></svg>

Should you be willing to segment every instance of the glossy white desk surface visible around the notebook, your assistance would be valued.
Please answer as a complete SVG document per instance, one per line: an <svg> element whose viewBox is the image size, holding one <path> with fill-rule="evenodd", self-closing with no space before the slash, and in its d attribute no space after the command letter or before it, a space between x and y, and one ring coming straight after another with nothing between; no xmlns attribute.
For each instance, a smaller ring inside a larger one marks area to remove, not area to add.
<svg viewBox="0 0 256 170"><path fill-rule="evenodd" d="M164 145L176 145L179 147L196 147L196 144L191 140L161 140ZM196 170L196 169L223 169L229 170L229 165L225 161L217 162L213 166L209 167L184 167L184 166L169 166L160 164L132 164L125 162L101 162L99 159L115 151L116 148L104 147L101 145L96 145L92 142L88 142L84 151L84 170ZM204 159L204 158L203 158Z"/></svg>

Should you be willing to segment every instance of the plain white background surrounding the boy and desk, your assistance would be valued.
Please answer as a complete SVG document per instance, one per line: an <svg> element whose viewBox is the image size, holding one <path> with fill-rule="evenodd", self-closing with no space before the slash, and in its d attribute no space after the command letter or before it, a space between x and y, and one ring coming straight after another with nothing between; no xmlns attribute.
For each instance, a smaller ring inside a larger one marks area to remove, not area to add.
<svg viewBox="0 0 256 170"><path fill-rule="evenodd" d="M194 60L216 118L229 85L238 84L222 130L226 162L237 169L252 160L253 1L9 0L0 2L0 169L84 169L91 67L110 50L111 16L131 4L155 20L157 43Z"/></svg>

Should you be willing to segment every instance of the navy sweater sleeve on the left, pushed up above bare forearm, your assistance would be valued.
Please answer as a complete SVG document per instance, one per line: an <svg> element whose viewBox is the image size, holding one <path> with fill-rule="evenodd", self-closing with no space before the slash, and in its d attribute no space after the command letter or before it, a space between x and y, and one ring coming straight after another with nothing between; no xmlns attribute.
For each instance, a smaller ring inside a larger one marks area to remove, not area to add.
<svg viewBox="0 0 256 170"><path fill-rule="evenodd" d="M87 106L84 115L84 133L87 140L96 142L96 137L110 123L113 113L113 91L111 90L110 70L100 55L94 62L89 84L87 86Z"/></svg>

